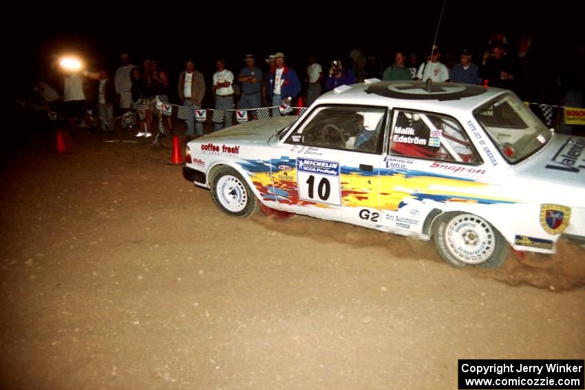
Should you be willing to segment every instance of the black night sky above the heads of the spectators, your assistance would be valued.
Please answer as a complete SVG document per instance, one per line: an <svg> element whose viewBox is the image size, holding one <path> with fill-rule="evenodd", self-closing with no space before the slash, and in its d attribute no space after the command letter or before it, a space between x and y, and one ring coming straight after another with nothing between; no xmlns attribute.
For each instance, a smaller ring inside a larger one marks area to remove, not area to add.
<svg viewBox="0 0 585 390"><path fill-rule="evenodd" d="M8 32L12 39L7 45L22 63L17 66L13 87L18 91L30 85L48 56L62 52L77 52L88 59L89 67L113 71L120 50L128 50L135 65L141 64L142 58L157 58L171 80L187 56L195 59L195 67L209 79L217 56L225 57L228 65L233 64L231 70L237 72L247 53L266 58L276 51L284 52L299 71L310 52L315 52L323 64L334 56L347 58L354 45L363 47L366 54L390 54L398 48L426 54L443 1L397 3L356 1L352 7L332 1L321 6L300 1L264 6L241 2L146 6L134 2L122 8L72 3L61 9L36 6L34 14L15 10L14 22L21 25ZM255 16L246 19L237 7ZM533 58L543 64L543 69L550 69L551 64L555 67L563 60L562 54L571 44L584 39L583 22L578 21L582 10L577 1L555 1L546 6L533 1L447 0L437 43L443 53L452 50L457 54L462 47L471 46L478 53L474 58L477 63L492 33L507 34L509 52L515 50L520 36L526 35L533 41Z"/></svg>

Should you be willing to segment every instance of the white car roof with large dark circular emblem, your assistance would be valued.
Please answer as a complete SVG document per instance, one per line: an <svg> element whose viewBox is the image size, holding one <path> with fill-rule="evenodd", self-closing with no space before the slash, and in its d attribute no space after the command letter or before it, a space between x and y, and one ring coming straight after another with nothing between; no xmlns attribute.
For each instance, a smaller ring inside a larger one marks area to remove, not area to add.
<svg viewBox="0 0 585 390"><path fill-rule="evenodd" d="M337 87L321 96L317 104L383 105L448 113L451 110L471 111L506 91L458 83L432 83L427 89L423 81L372 79Z"/></svg>

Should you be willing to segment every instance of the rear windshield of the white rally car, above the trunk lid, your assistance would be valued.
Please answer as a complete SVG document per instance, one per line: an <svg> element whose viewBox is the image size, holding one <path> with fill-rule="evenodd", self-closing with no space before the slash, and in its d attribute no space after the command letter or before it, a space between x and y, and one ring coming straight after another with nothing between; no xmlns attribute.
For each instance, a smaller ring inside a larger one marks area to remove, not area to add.
<svg viewBox="0 0 585 390"><path fill-rule="evenodd" d="M551 131L513 94L479 107L474 116L511 164L529 157L551 139Z"/></svg>

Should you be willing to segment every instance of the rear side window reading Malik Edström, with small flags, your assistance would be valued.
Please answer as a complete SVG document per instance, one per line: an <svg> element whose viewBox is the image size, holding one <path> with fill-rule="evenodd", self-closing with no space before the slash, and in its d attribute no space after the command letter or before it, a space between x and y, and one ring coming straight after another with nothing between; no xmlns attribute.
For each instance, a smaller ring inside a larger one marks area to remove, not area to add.
<svg viewBox="0 0 585 390"><path fill-rule="evenodd" d="M433 113L394 110L390 154L450 162L480 162L460 124Z"/></svg>

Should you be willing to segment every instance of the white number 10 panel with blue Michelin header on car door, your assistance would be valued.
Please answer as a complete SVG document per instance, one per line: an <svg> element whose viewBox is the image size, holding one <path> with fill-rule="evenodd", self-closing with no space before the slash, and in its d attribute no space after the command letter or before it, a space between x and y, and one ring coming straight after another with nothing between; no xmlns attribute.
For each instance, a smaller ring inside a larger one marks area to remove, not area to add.
<svg viewBox="0 0 585 390"><path fill-rule="evenodd" d="M339 162L297 159L299 198L310 202L341 206Z"/></svg>

